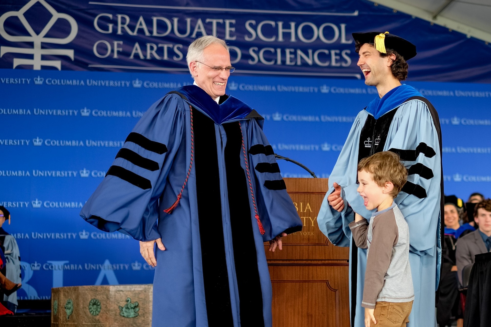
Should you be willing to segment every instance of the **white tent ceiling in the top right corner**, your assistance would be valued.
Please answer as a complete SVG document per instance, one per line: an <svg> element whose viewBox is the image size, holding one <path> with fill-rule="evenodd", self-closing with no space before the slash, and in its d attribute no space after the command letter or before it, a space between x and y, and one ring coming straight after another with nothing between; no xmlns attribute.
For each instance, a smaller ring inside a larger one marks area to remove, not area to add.
<svg viewBox="0 0 491 327"><path fill-rule="evenodd" d="M369 0L491 43L491 0Z"/></svg>

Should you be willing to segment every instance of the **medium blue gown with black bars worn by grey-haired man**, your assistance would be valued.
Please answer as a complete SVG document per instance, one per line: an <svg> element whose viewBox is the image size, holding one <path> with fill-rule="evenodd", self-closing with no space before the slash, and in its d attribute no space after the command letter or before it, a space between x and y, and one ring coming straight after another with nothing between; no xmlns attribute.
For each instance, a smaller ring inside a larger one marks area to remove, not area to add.
<svg viewBox="0 0 491 327"><path fill-rule="evenodd" d="M300 230L301 221L262 123L234 97L218 105L194 85L171 92L136 124L82 208L102 230L162 238L152 326L272 326L263 242ZM190 164L182 198L167 214Z"/></svg>

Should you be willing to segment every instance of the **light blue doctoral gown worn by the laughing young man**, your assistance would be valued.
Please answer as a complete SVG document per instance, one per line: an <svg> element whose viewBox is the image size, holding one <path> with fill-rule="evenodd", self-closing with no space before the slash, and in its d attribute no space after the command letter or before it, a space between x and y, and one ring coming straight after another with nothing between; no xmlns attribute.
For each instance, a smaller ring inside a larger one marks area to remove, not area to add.
<svg viewBox="0 0 491 327"><path fill-rule="evenodd" d="M390 149L412 151L415 154L415 160L404 161L405 166L408 169L413 166L421 169L422 166L417 164L422 164L432 171L431 177L423 173L420 175L417 172L418 169L409 171L408 181L416 185L416 190L421 191L419 186L422 187L426 197L419 198L414 194L401 192L394 201L401 209L409 226L409 262L414 286L414 302L408 327L434 327L436 326L435 291L441 263L440 210L443 196L439 122L434 108L430 110L427 100L422 97L401 101L383 114L388 114L392 110L396 112L390 124L383 151ZM350 246L350 257L353 242L348 224L354 220L354 212L359 213L368 221L372 213L365 208L362 198L356 192L359 138L368 115L371 114L362 110L355 118L346 143L329 176L329 191L317 218L319 228L331 243L342 247ZM421 143L426 144L426 150ZM434 150L433 155L430 153L430 148ZM421 151L414 152L415 149ZM333 182L337 182L342 188L341 195L345 200L342 212L332 209L327 201L327 196L334 191ZM419 196L421 197L421 194ZM350 283L350 309L352 313L355 310L353 327L364 327L364 308L361 306L361 300L365 267L366 250L357 249L355 308L351 307L353 302L352 284ZM350 275L352 270L350 261Z"/></svg>

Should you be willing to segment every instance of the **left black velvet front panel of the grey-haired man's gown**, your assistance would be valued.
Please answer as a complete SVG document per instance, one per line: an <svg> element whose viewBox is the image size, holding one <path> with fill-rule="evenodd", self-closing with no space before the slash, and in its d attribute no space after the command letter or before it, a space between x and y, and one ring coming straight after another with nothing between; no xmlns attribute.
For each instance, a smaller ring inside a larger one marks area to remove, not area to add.
<svg viewBox="0 0 491 327"><path fill-rule="evenodd" d="M225 261L215 123L193 110L194 169L208 326L234 326Z"/></svg>

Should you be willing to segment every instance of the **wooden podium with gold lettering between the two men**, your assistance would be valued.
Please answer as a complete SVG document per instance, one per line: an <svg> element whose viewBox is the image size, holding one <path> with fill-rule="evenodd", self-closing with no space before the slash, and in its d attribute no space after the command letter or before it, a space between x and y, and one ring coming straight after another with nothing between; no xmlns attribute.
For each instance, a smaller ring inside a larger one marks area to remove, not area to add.
<svg viewBox="0 0 491 327"><path fill-rule="evenodd" d="M283 251L265 243L273 327L349 327L349 248L332 245L317 225L327 178L284 180L303 229L283 237Z"/></svg>

